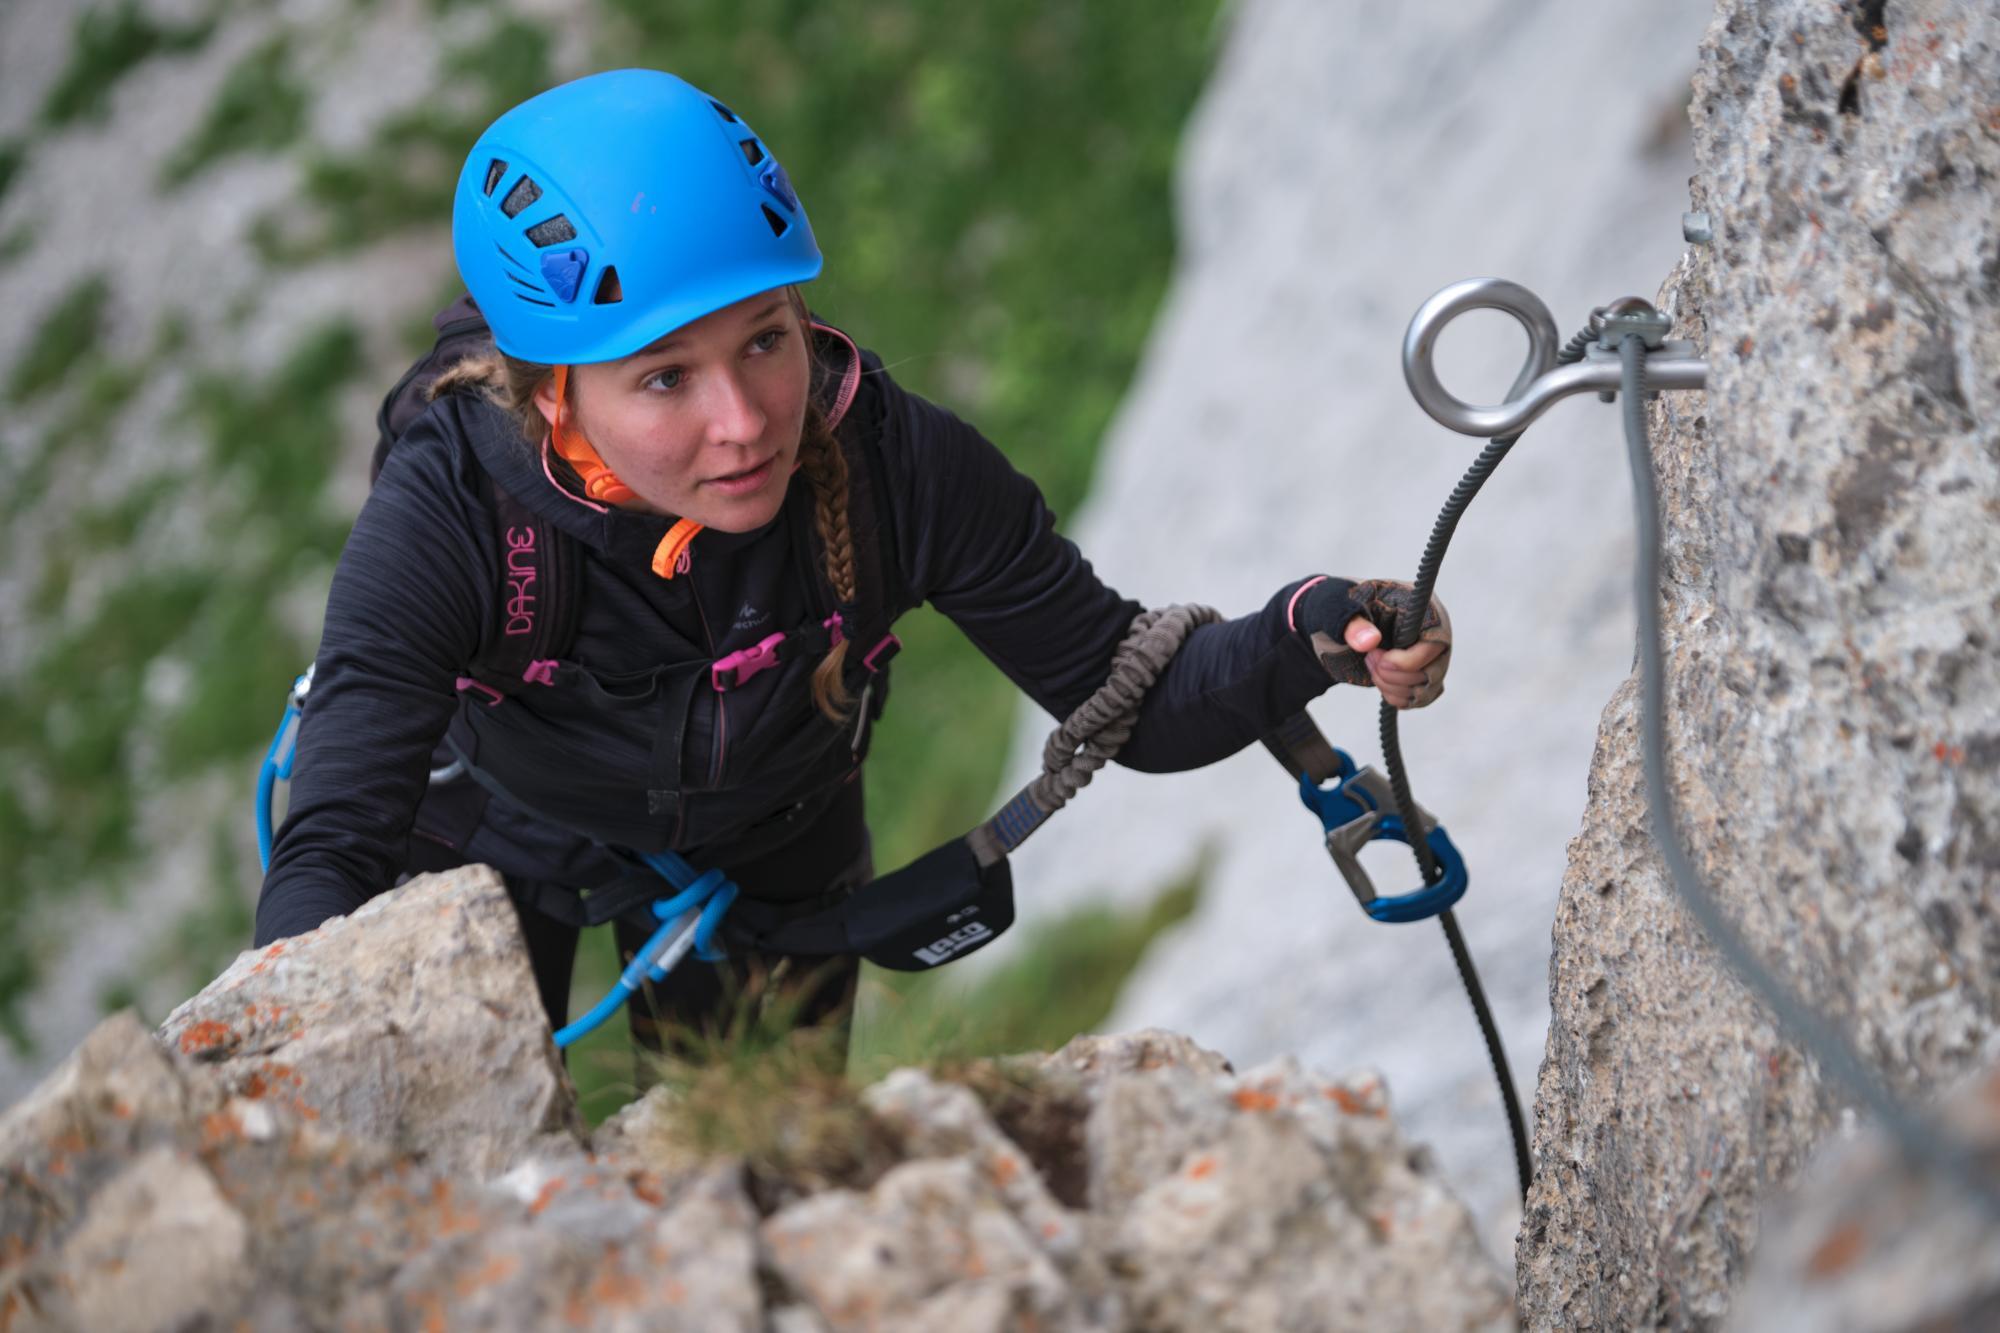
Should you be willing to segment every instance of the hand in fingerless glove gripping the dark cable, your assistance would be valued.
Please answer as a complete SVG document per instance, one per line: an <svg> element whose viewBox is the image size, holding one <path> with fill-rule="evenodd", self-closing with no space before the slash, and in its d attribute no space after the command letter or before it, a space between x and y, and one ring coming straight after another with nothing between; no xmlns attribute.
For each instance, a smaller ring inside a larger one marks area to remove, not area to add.
<svg viewBox="0 0 2000 1333"><path fill-rule="evenodd" d="M1430 598L1424 628L1408 648L1388 648L1412 588L1390 578L1318 578L1292 596L1292 628L1312 640L1326 675L1372 685L1396 709L1422 709L1444 693L1452 664L1452 616Z"/></svg>

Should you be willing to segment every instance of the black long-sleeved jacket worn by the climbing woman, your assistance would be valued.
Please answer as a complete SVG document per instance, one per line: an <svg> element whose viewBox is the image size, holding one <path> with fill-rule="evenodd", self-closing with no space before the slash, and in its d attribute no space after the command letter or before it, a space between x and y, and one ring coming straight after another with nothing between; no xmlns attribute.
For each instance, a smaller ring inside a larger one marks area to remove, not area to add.
<svg viewBox="0 0 2000 1333"><path fill-rule="evenodd" d="M848 356L832 338L818 352ZM1104 681L1138 602L1104 586L1056 534L1036 486L998 448L902 390L872 354L862 368L840 432L878 464L890 610L930 602L1030 699L1066 717ZM570 656L552 687L498 707L456 689L506 620L488 476L584 552ZM810 703L814 660L728 695L708 687L714 658L832 608L810 486L794 478L766 528L702 532L688 572L664 580L650 560L670 524L598 512L560 490L482 398L432 404L390 454L334 570L258 945L390 889L420 861L412 837L448 841L420 817L436 805L426 775L446 731L490 785L534 811L486 815L504 837L486 837L480 857L510 875L592 889L618 869L596 845L674 849L732 869L812 823L856 769L852 727ZM1256 614L1198 628L1118 761L1196 769L1322 693L1324 669L1286 626L1294 586Z"/></svg>

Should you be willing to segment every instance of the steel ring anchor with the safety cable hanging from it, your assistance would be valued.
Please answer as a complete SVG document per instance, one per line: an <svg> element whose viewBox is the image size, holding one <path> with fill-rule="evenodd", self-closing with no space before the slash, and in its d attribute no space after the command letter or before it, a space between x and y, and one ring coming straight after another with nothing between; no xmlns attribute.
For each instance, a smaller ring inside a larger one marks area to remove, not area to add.
<svg viewBox="0 0 2000 1333"><path fill-rule="evenodd" d="M1470 406L1454 398L1436 376L1432 352L1444 326L1466 310L1500 310L1514 316L1528 332L1528 360L1520 378L1500 406ZM1936 1171L1946 1181L1960 1183L1978 1205L2000 1217L2000 1183L1992 1171L1980 1165L1980 1157L1954 1133L1942 1131L1932 1117L1904 1105L1856 1055L1854 1045L1826 1019L1808 1009L1772 969L1750 949L1748 941L1722 915L1714 895L1694 871L1686 841L1674 811L1672 789L1666 781L1666 662L1660 636L1660 506L1654 484L1652 442L1646 432L1646 400L1660 390L1704 388L1708 364L1696 356L1692 342L1668 340L1672 318L1656 310L1648 300L1626 296L1608 306L1600 306L1590 316L1590 326L1578 332L1560 350L1554 350L1556 322L1534 292L1516 282L1500 278L1470 278L1456 282L1426 300L1404 334L1404 378L1418 404L1440 424L1462 434L1486 436L1490 444L1468 468L1464 480L1452 492L1452 502L1440 514L1432 532L1432 544L1424 552L1424 572L1436 576L1436 562L1442 560L1444 544L1456 528L1464 506L1478 492L1486 476L1498 466L1506 450L1520 438L1520 432L1554 402L1578 394L1596 392L1604 402L1618 400L1624 418L1626 458L1632 470L1632 506L1638 528L1638 558L1634 562L1634 602L1638 610L1638 660L1640 660L1640 751L1646 777L1646 811L1654 845L1668 871L1668 883L1682 905L1696 919L1716 951L1730 969L1764 1001L1780 1027L1812 1055L1822 1071L1832 1073L1848 1091L1868 1105L1882 1121L1882 1127L1896 1139L1906 1159ZM1418 608L1428 600L1430 582L1418 574L1418 588L1424 594ZM1420 612L1418 612L1420 614ZM1398 626L1398 640L1408 624ZM1396 807L1404 819L1414 813L1408 799L1408 781L1402 777L1402 757L1396 753L1394 713L1384 709L1384 751L1388 753ZM1424 861L1424 847L1414 845ZM1426 867L1426 879L1430 869ZM1450 923L1450 913L1444 913ZM1454 953L1460 947L1454 943ZM1464 971L1464 965L1462 965ZM1470 981L1468 987L1476 989ZM1474 995L1474 1005L1480 1005ZM1494 1045L1496 1069L1500 1051ZM1518 1127L1518 1109L1512 1103L1512 1085L1502 1073L1502 1089L1508 1093L1510 1117ZM1516 1131L1516 1155L1520 1157L1522 1189L1528 1183L1526 1149Z"/></svg>

